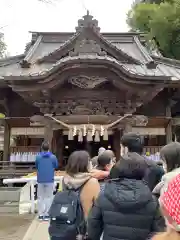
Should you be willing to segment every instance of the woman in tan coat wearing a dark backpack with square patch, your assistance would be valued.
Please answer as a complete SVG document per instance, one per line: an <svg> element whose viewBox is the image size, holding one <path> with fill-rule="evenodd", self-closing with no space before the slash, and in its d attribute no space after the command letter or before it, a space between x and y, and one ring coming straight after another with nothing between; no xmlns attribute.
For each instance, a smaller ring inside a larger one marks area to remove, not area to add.
<svg viewBox="0 0 180 240"><path fill-rule="evenodd" d="M98 180L89 170L90 156L86 151L69 156L66 176L49 211L51 240L84 238L86 219L100 192Z"/></svg>

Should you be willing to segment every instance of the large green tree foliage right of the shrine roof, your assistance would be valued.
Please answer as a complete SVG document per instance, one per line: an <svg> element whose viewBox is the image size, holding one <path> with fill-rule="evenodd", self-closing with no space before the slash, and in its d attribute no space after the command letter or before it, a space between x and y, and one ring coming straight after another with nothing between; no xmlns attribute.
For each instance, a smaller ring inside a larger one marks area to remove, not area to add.
<svg viewBox="0 0 180 240"><path fill-rule="evenodd" d="M129 11L127 23L146 33L164 56L180 60L180 0L139 3Z"/></svg>

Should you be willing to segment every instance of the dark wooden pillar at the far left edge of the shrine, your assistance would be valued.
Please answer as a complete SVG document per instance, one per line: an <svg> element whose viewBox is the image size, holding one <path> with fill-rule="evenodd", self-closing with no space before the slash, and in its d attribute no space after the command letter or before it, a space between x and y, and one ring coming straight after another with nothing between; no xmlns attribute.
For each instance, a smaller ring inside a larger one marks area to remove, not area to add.
<svg viewBox="0 0 180 240"><path fill-rule="evenodd" d="M7 121L4 121L4 153L3 153L3 162L9 161L10 159L10 137L11 129Z"/></svg>

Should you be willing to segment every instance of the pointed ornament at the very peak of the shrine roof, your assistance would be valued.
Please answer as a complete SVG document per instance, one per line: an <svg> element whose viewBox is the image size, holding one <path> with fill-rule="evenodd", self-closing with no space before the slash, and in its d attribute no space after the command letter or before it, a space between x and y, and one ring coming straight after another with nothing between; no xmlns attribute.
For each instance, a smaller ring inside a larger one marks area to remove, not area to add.
<svg viewBox="0 0 180 240"><path fill-rule="evenodd" d="M98 26L98 21L94 19L92 15L89 14L89 10L82 19L78 20L78 26L76 27L76 32L81 32L84 28L93 28L95 31L100 32L100 27Z"/></svg>

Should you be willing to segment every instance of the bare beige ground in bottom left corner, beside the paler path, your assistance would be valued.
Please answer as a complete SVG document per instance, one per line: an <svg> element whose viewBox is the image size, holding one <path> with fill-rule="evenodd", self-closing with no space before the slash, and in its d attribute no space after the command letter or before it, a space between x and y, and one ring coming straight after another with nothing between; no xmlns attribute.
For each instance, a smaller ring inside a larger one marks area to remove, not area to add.
<svg viewBox="0 0 180 240"><path fill-rule="evenodd" d="M22 240L33 219L30 214L0 214L0 240Z"/></svg>

